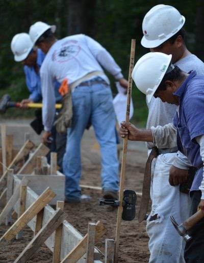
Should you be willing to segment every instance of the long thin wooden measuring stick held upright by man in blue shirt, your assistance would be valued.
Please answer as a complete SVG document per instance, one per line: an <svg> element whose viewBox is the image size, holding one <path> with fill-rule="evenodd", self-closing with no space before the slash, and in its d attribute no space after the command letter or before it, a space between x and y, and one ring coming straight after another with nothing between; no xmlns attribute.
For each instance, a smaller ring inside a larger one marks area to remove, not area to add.
<svg viewBox="0 0 204 263"><path fill-rule="evenodd" d="M130 119L131 93L132 93L132 83L133 83L132 72L133 72L134 59L135 59L135 42L136 42L136 40L132 39L132 42L131 42L130 68L129 68L129 79L128 79L128 88L127 88L126 122L128 122L129 119ZM119 247L120 224L121 224L121 217L122 217L122 199L123 199L123 190L124 190L126 153L127 153L127 137L125 137L124 140L123 140L123 149L122 149L122 163L121 163L120 190L119 190L119 206L118 206L116 235L115 235L114 263L117 263L117 260L118 260L118 247Z"/></svg>

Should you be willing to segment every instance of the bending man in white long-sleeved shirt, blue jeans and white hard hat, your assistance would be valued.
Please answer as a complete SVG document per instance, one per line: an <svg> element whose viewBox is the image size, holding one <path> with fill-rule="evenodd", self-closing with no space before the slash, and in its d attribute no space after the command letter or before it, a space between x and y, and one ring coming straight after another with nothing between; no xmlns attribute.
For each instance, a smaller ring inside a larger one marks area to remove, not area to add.
<svg viewBox="0 0 204 263"><path fill-rule="evenodd" d="M56 27L36 22L30 28L33 42L45 52L40 69L43 96L43 141L47 140L54 119L54 82L67 83L72 92L73 118L67 130L66 153L63 161L65 201L81 201L80 144L91 120L101 150L101 184L104 198L116 198L118 159L115 135L115 113L108 70L120 85L127 88L120 67L109 52L92 38L79 34L57 40Z"/></svg>

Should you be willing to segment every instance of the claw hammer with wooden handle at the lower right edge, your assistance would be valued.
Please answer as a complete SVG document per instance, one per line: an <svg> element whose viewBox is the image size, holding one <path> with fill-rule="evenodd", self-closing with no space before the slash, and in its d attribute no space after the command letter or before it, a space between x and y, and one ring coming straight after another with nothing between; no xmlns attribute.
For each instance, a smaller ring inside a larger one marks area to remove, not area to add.
<svg viewBox="0 0 204 263"><path fill-rule="evenodd" d="M194 215L185 220L181 225L178 225L173 216L170 216L171 223L175 227L176 231L183 236L184 240L188 242L192 239L190 235L187 234L187 230L193 227L198 221L204 217L204 212L199 210Z"/></svg>

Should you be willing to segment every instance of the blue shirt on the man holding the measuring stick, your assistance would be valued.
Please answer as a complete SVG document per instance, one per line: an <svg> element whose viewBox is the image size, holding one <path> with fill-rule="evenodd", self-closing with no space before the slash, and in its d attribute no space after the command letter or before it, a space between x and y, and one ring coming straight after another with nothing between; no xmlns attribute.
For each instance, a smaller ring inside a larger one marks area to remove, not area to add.
<svg viewBox="0 0 204 263"><path fill-rule="evenodd" d="M198 167L202 159L195 137L204 134L204 76L192 71L174 94L180 101L179 114L176 112L173 119L177 128L177 145L192 166ZM202 174L203 168L197 171L191 191L198 190Z"/></svg>

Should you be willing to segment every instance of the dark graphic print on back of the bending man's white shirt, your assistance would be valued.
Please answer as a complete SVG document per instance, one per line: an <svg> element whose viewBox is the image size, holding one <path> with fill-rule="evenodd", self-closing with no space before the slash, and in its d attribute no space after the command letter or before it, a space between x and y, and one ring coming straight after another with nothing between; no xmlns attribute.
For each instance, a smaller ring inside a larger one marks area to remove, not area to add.
<svg viewBox="0 0 204 263"><path fill-rule="evenodd" d="M60 63L67 62L77 57L80 50L81 47L78 45L78 41L66 41L62 44L60 49L54 51L52 59Z"/></svg>

